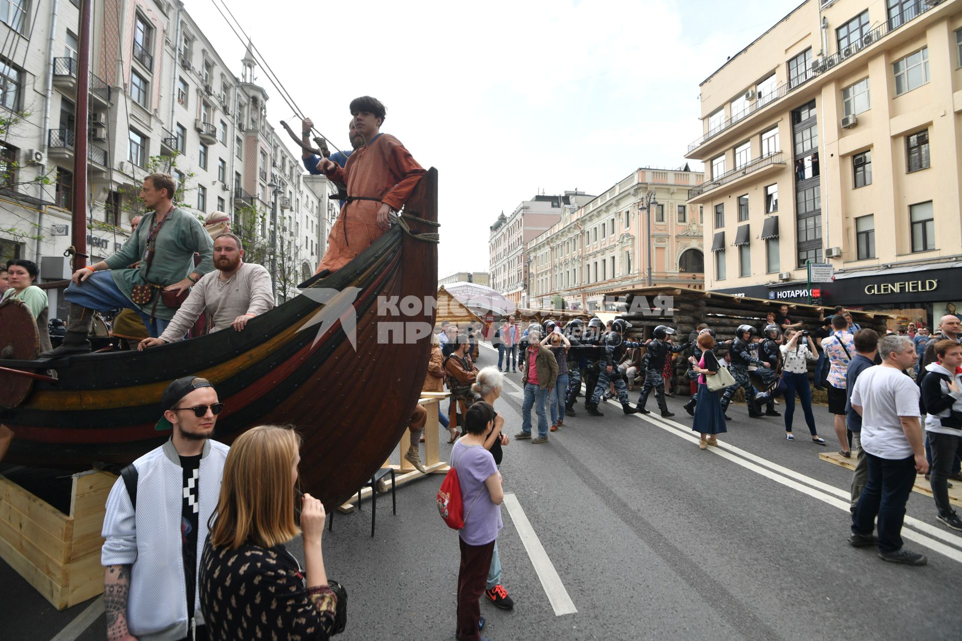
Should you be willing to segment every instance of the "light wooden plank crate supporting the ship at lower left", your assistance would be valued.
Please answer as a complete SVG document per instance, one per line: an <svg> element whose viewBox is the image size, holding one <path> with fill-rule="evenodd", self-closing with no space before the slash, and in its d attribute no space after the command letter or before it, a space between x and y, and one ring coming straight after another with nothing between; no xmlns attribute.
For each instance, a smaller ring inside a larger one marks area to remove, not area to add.
<svg viewBox="0 0 962 641"><path fill-rule="evenodd" d="M67 515L0 477L0 557L59 610L104 590L100 530L115 480L92 470L73 475Z"/></svg>

